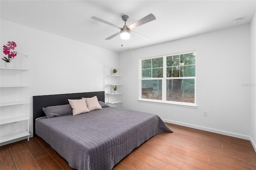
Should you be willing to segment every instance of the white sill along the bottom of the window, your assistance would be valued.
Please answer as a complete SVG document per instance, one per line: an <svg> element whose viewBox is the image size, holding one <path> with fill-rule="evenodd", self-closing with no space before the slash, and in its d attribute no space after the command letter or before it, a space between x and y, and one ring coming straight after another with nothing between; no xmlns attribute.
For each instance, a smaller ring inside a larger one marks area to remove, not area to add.
<svg viewBox="0 0 256 170"><path fill-rule="evenodd" d="M198 107L195 103L158 101L158 100L152 100L152 99L138 99L138 102L151 103L151 104L157 104L157 105L168 105L168 106L175 106L175 107L186 107L191 109L197 109Z"/></svg>

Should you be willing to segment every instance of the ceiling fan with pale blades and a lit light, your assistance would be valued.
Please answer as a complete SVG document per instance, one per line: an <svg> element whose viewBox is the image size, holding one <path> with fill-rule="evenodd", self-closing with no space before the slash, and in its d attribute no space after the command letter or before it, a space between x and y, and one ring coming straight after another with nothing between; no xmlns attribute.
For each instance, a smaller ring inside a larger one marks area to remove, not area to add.
<svg viewBox="0 0 256 170"><path fill-rule="evenodd" d="M117 26L117 25L112 24L110 22L107 22L105 20L102 20L100 18L97 18L95 16L92 17L92 19L94 19L96 21L103 22L105 24L108 24L110 26L114 26L114 27L119 28L121 30L120 32L106 38L105 40L110 40L110 39L114 38L115 36L118 36L119 34L121 34L120 37L121 37L122 40L128 40L128 39L130 39L130 33L134 32L134 31L131 31L132 29L156 19L156 17L153 14L149 14L149 15L145 16L144 18L141 18L140 20L134 22L132 25L126 26L126 21L128 20L128 18L129 18L129 16L127 16L127 15L122 16L122 20L124 21L124 26L120 27L120 26ZM134 33L136 33L136 32L134 32ZM139 33L137 33L137 34L139 34ZM140 35L142 35L142 34L140 34Z"/></svg>

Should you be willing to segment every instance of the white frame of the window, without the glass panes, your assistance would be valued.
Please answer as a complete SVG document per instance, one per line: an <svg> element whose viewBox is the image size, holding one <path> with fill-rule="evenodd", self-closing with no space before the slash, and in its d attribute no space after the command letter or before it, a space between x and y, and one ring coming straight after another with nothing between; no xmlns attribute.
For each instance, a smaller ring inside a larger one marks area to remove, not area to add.
<svg viewBox="0 0 256 170"><path fill-rule="evenodd" d="M197 109L197 105L196 105L196 76L195 77L166 77L166 57L168 56L172 56L172 55L181 55L181 54L185 54L185 53L196 53L196 50L192 50L192 51L185 51L185 52L180 52L180 53L172 53L172 54L168 54L168 55L158 55L158 56L154 56L154 57L146 57L146 58L140 58L139 62L138 62L138 68L139 68L139 91L138 91L138 102L143 102L143 103L152 103L152 104L160 104L160 105L172 105L172 106L177 106L177 107L188 107L188 108L192 108L192 109ZM142 98L142 92L141 92L141 81L143 80L142 77L142 60L145 59L152 59L152 58L159 58L159 57L163 57L163 77L162 78L145 78L146 80L158 80L161 79L162 80L162 100L156 100L156 99L144 99ZM178 101L166 101L166 80L168 79L194 79L195 81L195 87L194 87L194 91L195 91L195 96L194 96L194 103L186 103L186 102L178 102Z"/></svg>

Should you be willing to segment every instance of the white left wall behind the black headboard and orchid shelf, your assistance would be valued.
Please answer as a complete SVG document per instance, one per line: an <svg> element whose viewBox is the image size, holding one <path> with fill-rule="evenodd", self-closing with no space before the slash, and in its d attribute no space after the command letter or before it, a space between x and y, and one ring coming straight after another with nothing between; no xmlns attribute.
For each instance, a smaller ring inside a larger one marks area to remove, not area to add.
<svg viewBox="0 0 256 170"><path fill-rule="evenodd" d="M1 47L8 41L29 56L30 132L32 96L104 91L105 65L119 67L116 52L1 20Z"/></svg>

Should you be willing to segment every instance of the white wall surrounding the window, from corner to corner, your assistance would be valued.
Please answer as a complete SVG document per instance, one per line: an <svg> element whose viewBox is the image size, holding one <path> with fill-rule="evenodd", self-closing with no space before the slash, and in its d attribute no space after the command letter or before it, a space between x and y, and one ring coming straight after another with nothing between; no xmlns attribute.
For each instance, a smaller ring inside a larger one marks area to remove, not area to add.
<svg viewBox="0 0 256 170"><path fill-rule="evenodd" d="M168 36L168 35L167 35ZM138 59L196 50L197 109L138 102ZM236 26L120 53L122 108L164 121L249 139L250 25ZM203 116L208 111L208 117Z"/></svg>

